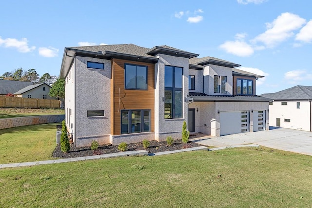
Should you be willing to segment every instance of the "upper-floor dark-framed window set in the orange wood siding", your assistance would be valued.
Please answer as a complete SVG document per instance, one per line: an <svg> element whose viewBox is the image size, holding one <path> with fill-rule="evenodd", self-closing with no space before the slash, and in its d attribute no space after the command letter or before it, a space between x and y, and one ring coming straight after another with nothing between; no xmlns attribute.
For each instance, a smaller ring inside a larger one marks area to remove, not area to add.
<svg viewBox="0 0 312 208"><path fill-rule="evenodd" d="M125 88L147 90L147 66L125 64Z"/></svg>

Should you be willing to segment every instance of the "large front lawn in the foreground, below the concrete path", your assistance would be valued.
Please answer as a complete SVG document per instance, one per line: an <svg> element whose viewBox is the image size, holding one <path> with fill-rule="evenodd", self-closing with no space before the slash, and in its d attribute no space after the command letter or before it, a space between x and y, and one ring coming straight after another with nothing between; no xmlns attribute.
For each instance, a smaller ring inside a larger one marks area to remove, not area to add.
<svg viewBox="0 0 312 208"><path fill-rule="evenodd" d="M0 207L311 207L312 157L269 148L0 169Z"/></svg>

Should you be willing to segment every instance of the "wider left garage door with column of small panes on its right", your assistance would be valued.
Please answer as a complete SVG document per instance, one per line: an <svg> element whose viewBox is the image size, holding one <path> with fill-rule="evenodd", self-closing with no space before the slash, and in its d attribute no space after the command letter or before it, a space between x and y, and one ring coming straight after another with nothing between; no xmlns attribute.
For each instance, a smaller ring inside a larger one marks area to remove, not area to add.
<svg viewBox="0 0 312 208"><path fill-rule="evenodd" d="M248 132L249 115L247 111L220 112L220 135Z"/></svg>

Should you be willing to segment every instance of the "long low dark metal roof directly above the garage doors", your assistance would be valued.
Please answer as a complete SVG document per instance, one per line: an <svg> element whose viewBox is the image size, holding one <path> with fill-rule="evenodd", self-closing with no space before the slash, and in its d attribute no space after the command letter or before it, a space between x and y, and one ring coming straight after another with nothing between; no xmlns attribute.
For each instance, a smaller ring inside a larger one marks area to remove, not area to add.
<svg viewBox="0 0 312 208"><path fill-rule="evenodd" d="M189 92L189 97L194 101L205 102L270 102L271 99L260 96L241 96L241 95L207 95L204 93Z"/></svg>

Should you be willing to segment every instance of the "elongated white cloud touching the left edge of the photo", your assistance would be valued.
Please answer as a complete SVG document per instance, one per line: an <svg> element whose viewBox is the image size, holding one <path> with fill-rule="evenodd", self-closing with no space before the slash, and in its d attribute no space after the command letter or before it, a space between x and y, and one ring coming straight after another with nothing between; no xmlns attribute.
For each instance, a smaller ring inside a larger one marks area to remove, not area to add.
<svg viewBox="0 0 312 208"><path fill-rule="evenodd" d="M21 40L17 40L15 38L6 38L2 39L0 37L0 46L5 48L16 48L19 52L27 53L36 49L35 46L29 47L27 38L21 38Z"/></svg>

